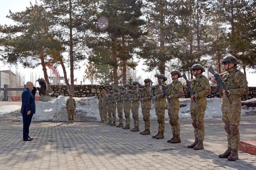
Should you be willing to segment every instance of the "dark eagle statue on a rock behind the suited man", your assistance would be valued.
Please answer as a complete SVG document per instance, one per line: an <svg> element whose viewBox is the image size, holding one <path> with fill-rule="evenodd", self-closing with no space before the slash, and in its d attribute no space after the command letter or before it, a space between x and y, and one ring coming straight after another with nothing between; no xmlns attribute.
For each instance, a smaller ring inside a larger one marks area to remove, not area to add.
<svg viewBox="0 0 256 170"><path fill-rule="evenodd" d="M41 79L38 78L37 82L40 85L40 88L36 87L36 89L39 91L39 94L40 94L39 101L42 101L42 102L51 101L52 99L51 99L50 95L52 95L53 92L50 92L47 90L46 81L43 78L41 78Z"/></svg>

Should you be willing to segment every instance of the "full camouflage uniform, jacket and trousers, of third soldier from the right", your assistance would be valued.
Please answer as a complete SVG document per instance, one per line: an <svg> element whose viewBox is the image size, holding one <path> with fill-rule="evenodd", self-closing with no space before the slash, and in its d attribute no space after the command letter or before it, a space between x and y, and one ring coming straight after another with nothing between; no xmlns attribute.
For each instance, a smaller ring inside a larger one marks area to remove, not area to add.
<svg viewBox="0 0 256 170"><path fill-rule="evenodd" d="M169 98L171 99L171 103L167 102L167 109L169 122L172 127L172 134L180 135L179 98L183 96L182 83L180 81L172 81L169 85L167 85L166 91Z"/></svg>

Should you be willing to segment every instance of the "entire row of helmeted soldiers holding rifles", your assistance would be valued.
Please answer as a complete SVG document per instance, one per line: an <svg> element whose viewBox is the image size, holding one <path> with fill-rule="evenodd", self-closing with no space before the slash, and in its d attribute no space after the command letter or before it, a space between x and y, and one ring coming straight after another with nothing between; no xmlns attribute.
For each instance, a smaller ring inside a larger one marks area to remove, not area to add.
<svg viewBox="0 0 256 170"><path fill-rule="evenodd" d="M210 67L209 71L214 75L210 76L209 79L202 74L205 71L204 68L200 64L195 64L191 67L191 72L195 78L184 83L179 81L179 78L182 77L180 72L173 70L171 72L172 82L168 85L165 83L167 78L163 74L159 74L157 76L159 84L156 86L152 86L150 79L145 79L144 88L140 88L140 83L134 81L132 87L130 84L124 84L124 86L119 86L118 89L113 88L112 91L107 93L104 91L99 96L102 123L130 129L130 110L132 110L134 128L131 131L140 131L138 110L141 106L145 130L140 134L150 135L150 108L153 104L157 116L158 132L152 138L163 139L165 131L164 116L167 106L169 123L172 129L172 138L167 142L180 143L179 98L183 96L184 87L190 90L190 111L195 136L195 142L187 147L194 150L204 149L204 112L207 105L206 96L211 93L210 80L220 85L220 95L222 96L221 111L225 123L224 129L228 134L228 149L223 154L220 154L219 158L236 160L238 159L237 152L240 139L238 125L240 123L241 95L246 93L248 89L248 82L244 74L237 69L237 64L236 58L228 55L222 59L225 72L215 74L214 71L212 72L212 67ZM187 79L186 76L184 78ZM166 98L168 99L167 102ZM119 117L118 125L116 125L116 107ZM123 125L123 110L125 127Z"/></svg>

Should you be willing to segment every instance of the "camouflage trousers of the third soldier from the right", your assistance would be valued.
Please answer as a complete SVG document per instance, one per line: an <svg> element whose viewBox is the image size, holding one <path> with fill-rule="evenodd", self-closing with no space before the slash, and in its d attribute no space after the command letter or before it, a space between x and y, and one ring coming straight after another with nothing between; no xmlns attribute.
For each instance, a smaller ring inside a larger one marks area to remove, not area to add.
<svg viewBox="0 0 256 170"><path fill-rule="evenodd" d="M180 135L179 109L168 109L168 116L172 134Z"/></svg>

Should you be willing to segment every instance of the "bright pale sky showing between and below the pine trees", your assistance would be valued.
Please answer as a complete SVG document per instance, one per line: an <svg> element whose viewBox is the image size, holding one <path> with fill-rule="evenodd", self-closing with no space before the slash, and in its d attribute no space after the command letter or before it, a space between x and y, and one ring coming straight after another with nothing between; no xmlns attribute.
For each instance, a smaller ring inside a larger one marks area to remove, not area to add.
<svg viewBox="0 0 256 170"><path fill-rule="evenodd" d="M1 4L0 25L14 24L11 19L6 18L6 15L9 14L9 10L11 10L12 12L23 11L26 9L27 6L30 5L29 4L30 2L32 4L34 4L36 2L36 0L0 0L0 4ZM25 81L30 81L30 73L32 71L33 71L34 75L37 74L37 78L39 75L40 75L40 77L44 77L41 66L37 67L36 69L23 68L20 65L12 66L11 70L14 73L15 73L16 67L22 74L26 75ZM0 61L0 70L9 70L9 68L10 68L10 66L8 66L5 63L2 63L2 61ZM139 70L139 74L141 74L143 79L150 77L152 73L144 72L142 70L142 68L146 68L146 66L143 65L143 61L141 60L139 62L139 65L137 66L137 69ZM60 71L60 75L63 76L61 66L59 66L57 69ZM67 74L69 77L70 70L69 70L69 68L66 68L66 70L67 70ZM84 70L85 70L85 68L84 68L83 64L81 64L81 70L74 71L75 78L77 77L77 84L80 84L80 81L83 80ZM249 83L249 86L256 86L256 78L255 78L256 74L250 73L251 70L246 70L246 71L247 71L247 81ZM48 74L50 75L50 72L48 72ZM76 84L76 82L75 82L75 84ZM85 84L90 84L89 80L86 80Z"/></svg>

